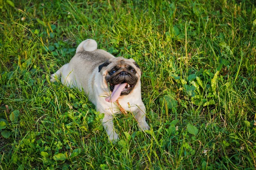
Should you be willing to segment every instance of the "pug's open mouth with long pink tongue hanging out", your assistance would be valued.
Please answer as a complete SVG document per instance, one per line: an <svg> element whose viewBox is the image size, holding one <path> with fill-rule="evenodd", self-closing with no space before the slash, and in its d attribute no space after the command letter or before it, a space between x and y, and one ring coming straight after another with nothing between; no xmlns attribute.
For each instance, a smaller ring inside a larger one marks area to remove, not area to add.
<svg viewBox="0 0 256 170"><path fill-rule="evenodd" d="M131 93L132 89L134 88L135 84L128 84L126 81L123 81L119 84L112 84L109 83L110 91L112 91L111 96L108 96L105 100L107 102L115 102L119 96L128 95Z"/></svg>

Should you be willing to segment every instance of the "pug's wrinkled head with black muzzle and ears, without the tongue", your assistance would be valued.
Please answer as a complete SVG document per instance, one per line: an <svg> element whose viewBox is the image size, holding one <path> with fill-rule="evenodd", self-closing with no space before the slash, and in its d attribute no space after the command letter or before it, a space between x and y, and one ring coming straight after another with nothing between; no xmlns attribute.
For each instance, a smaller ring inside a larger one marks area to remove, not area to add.
<svg viewBox="0 0 256 170"><path fill-rule="evenodd" d="M120 96L130 94L141 76L140 67L134 59L125 59L123 57L113 58L99 65L99 72L100 71L102 71L103 76L105 76L105 83L107 85L109 84L112 92L115 85L127 83L122 89Z"/></svg>

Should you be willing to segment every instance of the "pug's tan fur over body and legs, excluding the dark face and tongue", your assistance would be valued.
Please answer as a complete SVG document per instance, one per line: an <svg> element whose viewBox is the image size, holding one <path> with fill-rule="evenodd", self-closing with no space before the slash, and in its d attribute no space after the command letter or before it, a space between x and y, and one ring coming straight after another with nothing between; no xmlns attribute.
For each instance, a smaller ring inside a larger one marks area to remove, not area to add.
<svg viewBox="0 0 256 170"><path fill-rule="evenodd" d="M94 40L85 40L88 44ZM96 44L97 45L97 44ZM149 126L145 121L145 106L141 99L140 88L140 76L141 71L134 65L134 59L125 59L123 57L114 57L110 53L104 50L96 49L94 51L83 51L87 47L79 45L76 55L70 60L69 63L63 65L55 74L52 74L51 81L55 82L56 79L61 78L61 82L70 88L79 88L84 90L84 93L88 96L89 100L96 106L96 110L105 113L102 119L102 124L108 134L109 140L115 142L119 139L113 126L113 114L120 113L116 105L111 102L106 102L105 97L109 96L111 92L106 82L106 76L114 66L118 65L122 69L126 69L126 65L131 65L136 70L136 77L139 79L134 89L130 94L119 97L119 103L126 111L130 111L134 114L138 122L138 127L142 130L148 130ZM97 48L97 47L96 47ZM93 49L93 46L90 46ZM111 63L103 67L99 72L98 66L102 65L105 61ZM128 107L128 102L131 107Z"/></svg>

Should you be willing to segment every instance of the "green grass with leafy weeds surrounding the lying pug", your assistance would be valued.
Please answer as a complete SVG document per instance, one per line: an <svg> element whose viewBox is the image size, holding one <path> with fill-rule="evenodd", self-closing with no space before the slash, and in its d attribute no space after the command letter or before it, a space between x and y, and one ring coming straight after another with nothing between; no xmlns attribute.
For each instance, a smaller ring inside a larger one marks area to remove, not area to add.
<svg viewBox="0 0 256 170"><path fill-rule="evenodd" d="M0 16L1 170L256 168L253 2L14 5ZM49 82L88 38L139 63L150 131L118 115L108 143L87 97Z"/></svg>

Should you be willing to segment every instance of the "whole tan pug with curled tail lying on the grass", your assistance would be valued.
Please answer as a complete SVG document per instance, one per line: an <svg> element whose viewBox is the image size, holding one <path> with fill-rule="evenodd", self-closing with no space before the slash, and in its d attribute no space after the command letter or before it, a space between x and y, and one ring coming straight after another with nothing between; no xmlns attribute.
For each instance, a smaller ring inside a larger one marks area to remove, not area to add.
<svg viewBox="0 0 256 170"><path fill-rule="evenodd" d="M95 40L88 39L78 45L75 56L52 74L50 81L61 79L63 85L84 91L96 110L104 113L102 125L109 141L116 142L119 137L114 130L113 115L121 113L118 105L134 114L140 129L149 130L141 99L141 74L134 59L114 57L97 49Z"/></svg>

